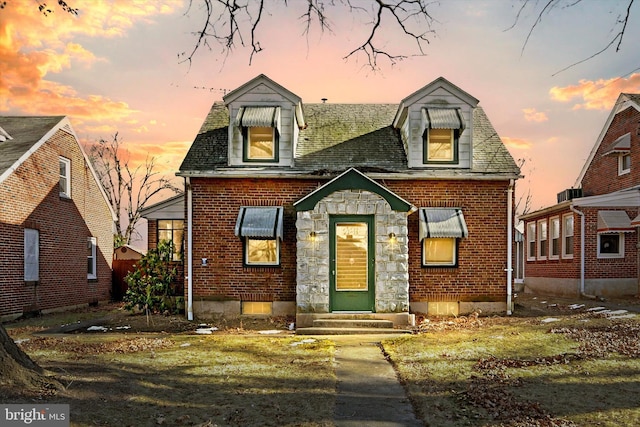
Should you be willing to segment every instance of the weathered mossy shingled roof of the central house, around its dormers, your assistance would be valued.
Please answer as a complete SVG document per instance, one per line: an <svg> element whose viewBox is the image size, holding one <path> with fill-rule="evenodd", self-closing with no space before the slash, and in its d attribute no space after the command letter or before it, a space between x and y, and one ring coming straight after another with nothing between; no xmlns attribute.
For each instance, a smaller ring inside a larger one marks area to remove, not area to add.
<svg viewBox="0 0 640 427"><path fill-rule="evenodd" d="M355 167L363 172L415 172L408 168L400 134L392 126L397 110L397 104L304 104L308 126L300 131L295 166L288 170L321 174ZM473 166L468 172L519 174L482 107L474 108L473 123ZM228 126L227 107L214 103L180 166L181 174L229 167Z"/></svg>

